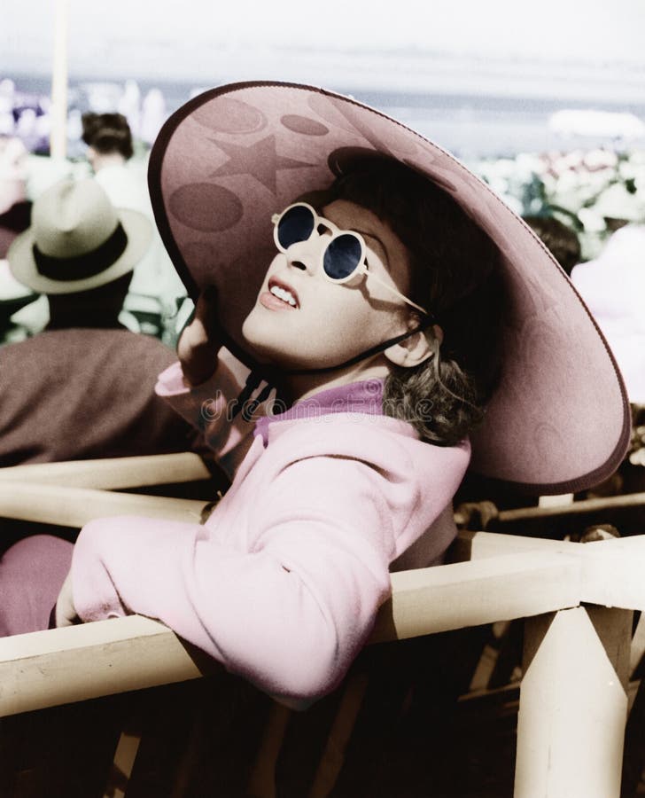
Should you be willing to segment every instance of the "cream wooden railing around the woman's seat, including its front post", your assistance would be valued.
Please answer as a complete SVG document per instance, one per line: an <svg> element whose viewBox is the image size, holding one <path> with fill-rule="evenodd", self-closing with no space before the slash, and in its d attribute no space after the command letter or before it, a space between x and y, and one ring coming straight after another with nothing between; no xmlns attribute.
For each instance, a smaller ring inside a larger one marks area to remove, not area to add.
<svg viewBox="0 0 645 798"><path fill-rule="evenodd" d="M124 513L198 520L204 502L105 489L206 476L198 458L171 458L4 469L0 514L65 526ZM575 544L462 532L452 553L450 564L392 574L370 642L526 619L515 795L618 796L632 611L645 610L645 536ZM0 716L213 667L163 624L136 615L4 638Z"/></svg>

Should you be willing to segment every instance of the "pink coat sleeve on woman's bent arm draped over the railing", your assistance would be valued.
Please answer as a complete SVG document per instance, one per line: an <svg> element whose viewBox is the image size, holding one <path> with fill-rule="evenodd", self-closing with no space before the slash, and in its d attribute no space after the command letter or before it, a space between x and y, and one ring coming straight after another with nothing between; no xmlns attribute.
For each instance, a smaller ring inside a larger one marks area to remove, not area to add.
<svg viewBox="0 0 645 798"><path fill-rule="evenodd" d="M257 497L248 548L198 525L92 521L74 549L76 609L84 621L157 618L264 691L315 700L345 675L390 592L397 513L384 481L351 459L292 463Z"/></svg>

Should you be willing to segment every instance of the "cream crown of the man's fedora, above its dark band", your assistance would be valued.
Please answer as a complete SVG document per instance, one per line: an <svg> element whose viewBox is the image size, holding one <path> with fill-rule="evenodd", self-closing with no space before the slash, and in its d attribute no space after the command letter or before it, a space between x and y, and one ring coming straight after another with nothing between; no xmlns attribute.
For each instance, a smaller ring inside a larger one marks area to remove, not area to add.
<svg viewBox="0 0 645 798"><path fill-rule="evenodd" d="M104 189L91 178L51 186L35 200L32 213L35 246L60 260L97 249L119 223Z"/></svg>

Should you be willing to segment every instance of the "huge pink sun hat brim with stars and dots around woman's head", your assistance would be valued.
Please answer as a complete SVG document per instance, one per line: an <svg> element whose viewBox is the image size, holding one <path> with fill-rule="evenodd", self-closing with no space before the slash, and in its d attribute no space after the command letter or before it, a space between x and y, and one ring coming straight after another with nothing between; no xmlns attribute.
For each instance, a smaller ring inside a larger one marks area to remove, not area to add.
<svg viewBox="0 0 645 798"><path fill-rule="evenodd" d="M472 467L538 493L602 481L625 454L629 408L613 357L571 282L459 161L351 98L246 82L206 91L169 118L148 180L161 237L190 295L217 287L227 346L253 367L241 327L275 254L271 215L374 154L439 184L501 251L509 293L503 375L472 435Z"/></svg>

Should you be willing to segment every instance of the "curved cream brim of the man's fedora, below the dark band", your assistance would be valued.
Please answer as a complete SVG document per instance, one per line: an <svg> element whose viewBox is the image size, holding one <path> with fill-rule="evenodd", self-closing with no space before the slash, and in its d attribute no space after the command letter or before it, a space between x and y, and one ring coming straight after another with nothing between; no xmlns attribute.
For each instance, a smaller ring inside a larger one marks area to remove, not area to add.
<svg viewBox="0 0 645 798"><path fill-rule="evenodd" d="M7 252L13 276L24 286L38 293L79 293L105 286L132 271L152 242L152 223L144 214L130 208L118 208L117 215L128 237L128 244L120 257L107 269L80 280L54 280L38 271L34 259L34 230L28 228L14 239Z"/></svg>

